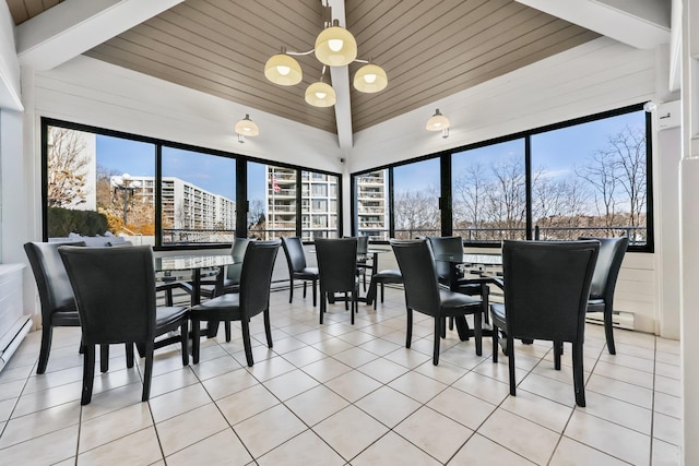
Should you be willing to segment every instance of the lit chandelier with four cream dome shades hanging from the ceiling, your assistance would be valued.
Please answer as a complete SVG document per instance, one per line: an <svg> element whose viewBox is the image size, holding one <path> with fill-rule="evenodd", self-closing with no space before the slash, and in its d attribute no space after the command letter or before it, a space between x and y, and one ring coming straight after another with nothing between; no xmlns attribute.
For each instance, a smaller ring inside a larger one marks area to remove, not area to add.
<svg viewBox="0 0 699 466"><path fill-rule="evenodd" d="M323 7L323 31L316 38L316 46L309 51L288 51L282 47L280 53L270 57L264 64L264 75L274 84L293 86L301 82L304 73L293 56L316 53L323 63L320 80L306 88L306 101L315 107L335 105L336 94L323 79L328 67L345 67L352 62L365 63L354 75L354 87L363 93L377 93L388 85L386 71L371 63L370 60L357 59L357 41L350 31L340 27L337 20L332 20L332 8Z"/></svg>

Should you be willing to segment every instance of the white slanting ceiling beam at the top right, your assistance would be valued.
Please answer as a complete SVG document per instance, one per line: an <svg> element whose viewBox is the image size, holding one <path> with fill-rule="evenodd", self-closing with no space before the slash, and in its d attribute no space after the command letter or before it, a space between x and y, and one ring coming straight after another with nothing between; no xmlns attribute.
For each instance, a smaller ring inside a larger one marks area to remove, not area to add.
<svg viewBox="0 0 699 466"><path fill-rule="evenodd" d="M639 49L670 43L666 0L517 0Z"/></svg>

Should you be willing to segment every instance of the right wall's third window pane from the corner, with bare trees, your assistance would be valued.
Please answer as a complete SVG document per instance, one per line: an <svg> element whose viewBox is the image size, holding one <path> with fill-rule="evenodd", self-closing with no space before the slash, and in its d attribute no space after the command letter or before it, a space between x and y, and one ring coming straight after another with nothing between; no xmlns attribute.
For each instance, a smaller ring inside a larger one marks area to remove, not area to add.
<svg viewBox="0 0 699 466"><path fill-rule="evenodd" d="M453 234L466 242L524 239L524 140L451 156Z"/></svg>

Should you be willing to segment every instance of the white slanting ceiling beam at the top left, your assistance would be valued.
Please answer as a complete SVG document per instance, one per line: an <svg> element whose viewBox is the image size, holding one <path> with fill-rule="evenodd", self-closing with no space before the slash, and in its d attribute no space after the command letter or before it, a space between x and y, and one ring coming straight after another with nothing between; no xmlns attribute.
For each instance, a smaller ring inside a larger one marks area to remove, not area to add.
<svg viewBox="0 0 699 466"><path fill-rule="evenodd" d="M50 70L183 0L66 0L15 28L22 65Z"/></svg>

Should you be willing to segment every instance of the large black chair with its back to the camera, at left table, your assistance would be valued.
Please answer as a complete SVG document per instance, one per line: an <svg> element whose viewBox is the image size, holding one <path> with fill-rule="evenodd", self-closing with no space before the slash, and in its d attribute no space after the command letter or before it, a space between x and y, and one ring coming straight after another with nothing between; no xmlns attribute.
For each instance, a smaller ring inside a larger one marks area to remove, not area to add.
<svg viewBox="0 0 699 466"><path fill-rule="evenodd" d="M182 306L158 307L155 297L153 250L150 246L131 248L58 249L75 294L82 328L83 389L81 404L92 399L95 372L95 345L127 344L127 367L133 367L133 345L145 357L143 393L149 399L153 374L153 351L171 338L156 338L180 332L182 365L189 363L189 312ZM105 356L103 353L102 357Z"/></svg>

